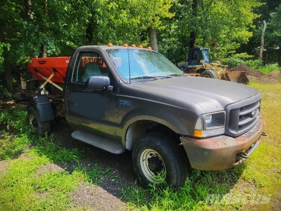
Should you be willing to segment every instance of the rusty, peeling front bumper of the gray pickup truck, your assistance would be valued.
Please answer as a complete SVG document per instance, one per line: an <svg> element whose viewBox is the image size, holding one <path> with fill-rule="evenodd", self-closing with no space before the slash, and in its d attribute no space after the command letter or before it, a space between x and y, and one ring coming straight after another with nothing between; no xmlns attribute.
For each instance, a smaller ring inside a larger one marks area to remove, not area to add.
<svg viewBox="0 0 281 211"><path fill-rule="evenodd" d="M220 135L197 139L180 137L192 168L217 171L239 165L250 156L261 142L264 119L238 137Z"/></svg>

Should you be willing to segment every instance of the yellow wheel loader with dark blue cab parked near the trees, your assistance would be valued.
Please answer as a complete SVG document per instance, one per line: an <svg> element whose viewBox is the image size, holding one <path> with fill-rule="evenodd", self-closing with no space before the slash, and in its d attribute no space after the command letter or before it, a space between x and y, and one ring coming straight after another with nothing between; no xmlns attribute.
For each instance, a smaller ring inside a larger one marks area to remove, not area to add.
<svg viewBox="0 0 281 211"><path fill-rule="evenodd" d="M188 59L184 62L176 63L176 66L185 74L200 74L200 77L228 80L236 83L249 82L245 71L228 72L228 65L209 63L208 48L191 48Z"/></svg>

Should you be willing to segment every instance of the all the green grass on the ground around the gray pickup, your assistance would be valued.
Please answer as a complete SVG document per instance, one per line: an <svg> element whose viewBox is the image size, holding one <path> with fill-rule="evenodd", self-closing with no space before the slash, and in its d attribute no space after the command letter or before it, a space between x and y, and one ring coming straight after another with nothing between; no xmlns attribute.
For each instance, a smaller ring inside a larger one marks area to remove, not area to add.
<svg viewBox="0 0 281 211"><path fill-rule="evenodd" d="M184 187L176 192L163 182L146 189L136 184L124 187L121 195L128 210L271 209L281 181L281 84L251 82L249 86L262 93L261 115L266 120L265 132L268 134L251 157L232 169L218 172L191 170ZM7 111L5 115L17 115L18 112ZM10 130L19 131L22 122L19 120L14 124L13 117L8 119L11 119ZM0 140L0 159L9 162L8 171L0 174L0 210L73 209L70 192L79 188L81 182L96 186L102 177L110 176L109 168L103 169L97 164L91 169L80 166L76 161L83 152L63 148L53 142L54 136L37 139L28 128L22 131L17 136L6 135ZM29 158L15 158L19 152ZM77 164L70 173L36 175L39 168L52 162ZM270 201L260 203L259 200Z"/></svg>

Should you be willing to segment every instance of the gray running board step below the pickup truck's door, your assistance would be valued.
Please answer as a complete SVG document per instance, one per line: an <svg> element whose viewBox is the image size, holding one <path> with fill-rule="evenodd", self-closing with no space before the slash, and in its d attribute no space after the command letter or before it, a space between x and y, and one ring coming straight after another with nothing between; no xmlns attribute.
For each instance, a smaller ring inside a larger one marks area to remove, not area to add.
<svg viewBox="0 0 281 211"><path fill-rule="evenodd" d="M74 139L77 139L77 140L83 141L85 143L91 144L95 147L98 147L98 148L100 148L102 150L105 150L105 151L108 151L110 153L121 154L121 153L126 151L120 144L117 144L117 143L114 143L112 141L94 136L92 134L89 134L89 133L86 133L86 132L83 132L83 131L79 131L79 130L74 131L71 134L71 136Z"/></svg>

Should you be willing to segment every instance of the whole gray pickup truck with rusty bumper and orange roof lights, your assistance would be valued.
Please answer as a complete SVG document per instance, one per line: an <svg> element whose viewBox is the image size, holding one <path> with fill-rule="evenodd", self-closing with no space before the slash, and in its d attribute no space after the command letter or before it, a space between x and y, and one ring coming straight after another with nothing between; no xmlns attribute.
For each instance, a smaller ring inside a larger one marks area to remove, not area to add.
<svg viewBox="0 0 281 211"><path fill-rule="evenodd" d="M132 150L144 185L162 176L178 189L189 166L231 168L261 142L264 119L257 90L186 76L151 49L79 47L63 77L61 98L53 89L30 98L29 122L37 135L48 133L57 116L65 117L76 129L74 139L116 154Z"/></svg>

